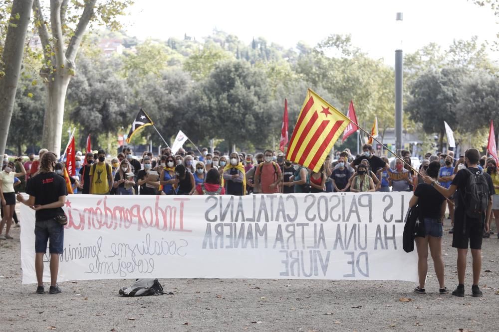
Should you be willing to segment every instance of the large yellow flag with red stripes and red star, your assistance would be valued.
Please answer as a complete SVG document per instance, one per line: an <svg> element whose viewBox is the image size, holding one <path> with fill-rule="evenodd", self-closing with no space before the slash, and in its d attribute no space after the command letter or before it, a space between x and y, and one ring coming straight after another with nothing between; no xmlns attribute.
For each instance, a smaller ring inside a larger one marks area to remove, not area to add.
<svg viewBox="0 0 499 332"><path fill-rule="evenodd" d="M318 172L349 123L348 117L308 89L287 147L286 159Z"/></svg>

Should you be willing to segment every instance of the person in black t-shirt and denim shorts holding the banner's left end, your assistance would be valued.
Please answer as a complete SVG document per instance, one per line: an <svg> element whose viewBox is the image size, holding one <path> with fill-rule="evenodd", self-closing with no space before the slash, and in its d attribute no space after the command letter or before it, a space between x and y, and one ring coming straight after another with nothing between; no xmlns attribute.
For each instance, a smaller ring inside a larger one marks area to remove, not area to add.
<svg viewBox="0 0 499 332"><path fill-rule="evenodd" d="M62 253L64 241L64 226L55 220L63 216L62 207L66 203L66 181L54 173L56 156L52 152L43 154L40 162L40 172L32 177L26 186L26 200L21 194L17 201L29 206L35 213L35 271L38 287L36 293L43 294L43 255L47 251L47 241L50 239L50 294L61 292L57 286L59 271L59 254Z"/></svg>

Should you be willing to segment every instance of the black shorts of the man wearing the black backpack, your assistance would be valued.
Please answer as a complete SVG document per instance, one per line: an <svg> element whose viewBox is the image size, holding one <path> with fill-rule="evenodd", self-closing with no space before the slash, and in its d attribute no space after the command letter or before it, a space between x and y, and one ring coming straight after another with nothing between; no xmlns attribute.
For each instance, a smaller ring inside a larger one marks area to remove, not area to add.
<svg viewBox="0 0 499 332"><path fill-rule="evenodd" d="M463 217L459 217L454 218L452 246L458 249L468 249L469 244L472 249L482 249L484 223L471 218L467 218L464 222Z"/></svg>

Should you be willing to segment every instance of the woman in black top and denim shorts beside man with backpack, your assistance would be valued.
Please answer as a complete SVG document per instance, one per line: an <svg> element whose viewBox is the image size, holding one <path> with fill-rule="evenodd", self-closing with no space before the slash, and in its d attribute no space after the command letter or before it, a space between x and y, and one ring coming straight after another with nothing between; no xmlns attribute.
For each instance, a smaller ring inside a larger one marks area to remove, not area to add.
<svg viewBox="0 0 499 332"><path fill-rule="evenodd" d="M438 179L440 163L433 161L426 170L426 175ZM414 289L415 293L426 294L425 282L428 272L428 245L435 265L435 274L440 284L440 294L447 294L449 291L444 282L444 261L442 259L442 218L445 214L446 200L435 188L426 183L416 187L409 207L418 205L420 215L424 220L425 237L416 237L416 248L418 250L418 276L419 286Z"/></svg>

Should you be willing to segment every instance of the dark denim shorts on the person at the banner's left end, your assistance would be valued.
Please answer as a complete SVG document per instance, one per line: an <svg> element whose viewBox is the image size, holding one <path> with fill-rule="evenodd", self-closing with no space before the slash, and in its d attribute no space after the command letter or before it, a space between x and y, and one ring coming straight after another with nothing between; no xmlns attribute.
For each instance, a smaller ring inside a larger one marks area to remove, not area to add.
<svg viewBox="0 0 499 332"><path fill-rule="evenodd" d="M36 221L34 225L34 250L37 253L47 252L47 241L50 239L49 252L60 254L64 249L64 226L55 220Z"/></svg>

